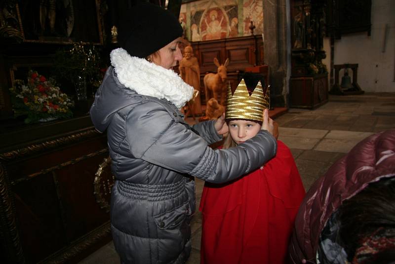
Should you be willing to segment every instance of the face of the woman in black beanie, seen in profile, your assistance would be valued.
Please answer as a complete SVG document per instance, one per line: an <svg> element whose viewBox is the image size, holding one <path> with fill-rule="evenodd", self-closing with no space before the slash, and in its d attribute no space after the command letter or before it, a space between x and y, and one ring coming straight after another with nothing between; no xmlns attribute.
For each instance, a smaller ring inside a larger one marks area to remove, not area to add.
<svg viewBox="0 0 395 264"><path fill-rule="evenodd" d="M152 62L166 69L176 66L177 61L182 59L180 44L180 38L177 38L165 45L158 50L159 56L152 58Z"/></svg>

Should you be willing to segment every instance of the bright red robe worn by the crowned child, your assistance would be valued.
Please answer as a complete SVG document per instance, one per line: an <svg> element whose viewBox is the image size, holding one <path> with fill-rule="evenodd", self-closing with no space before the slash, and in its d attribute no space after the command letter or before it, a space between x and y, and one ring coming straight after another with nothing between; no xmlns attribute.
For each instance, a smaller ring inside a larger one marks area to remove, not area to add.
<svg viewBox="0 0 395 264"><path fill-rule="evenodd" d="M305 190L289 148L225 184L205 183L201 264L281 264Z"/></svg>

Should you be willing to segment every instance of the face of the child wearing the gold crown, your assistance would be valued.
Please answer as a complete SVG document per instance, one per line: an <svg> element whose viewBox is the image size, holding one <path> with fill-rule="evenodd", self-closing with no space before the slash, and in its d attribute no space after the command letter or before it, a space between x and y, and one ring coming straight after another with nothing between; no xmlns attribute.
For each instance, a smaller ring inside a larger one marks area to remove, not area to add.
<svg viewBox="0 0 395 264"><path fill-rule="evenodd" d="M261 130L261 125L258 123L246 120L232 120L228 127L229 133L237 145L254 137Z"/></svg>

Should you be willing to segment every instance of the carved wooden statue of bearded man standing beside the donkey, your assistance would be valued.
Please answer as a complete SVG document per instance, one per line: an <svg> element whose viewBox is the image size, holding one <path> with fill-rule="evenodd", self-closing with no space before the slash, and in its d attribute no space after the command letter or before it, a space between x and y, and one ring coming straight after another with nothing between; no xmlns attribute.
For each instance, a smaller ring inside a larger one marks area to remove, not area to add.
<svg viewBox="0 0 395 264"><path fill-rule="evenodd" d="M191 46L184 48L184 57L180 61L181 78L190 86L200 92L200 68L197 58L194 56L194 50ZM201 114L200 96L198 95L193 102L193 110L196 115Z"/></svg>

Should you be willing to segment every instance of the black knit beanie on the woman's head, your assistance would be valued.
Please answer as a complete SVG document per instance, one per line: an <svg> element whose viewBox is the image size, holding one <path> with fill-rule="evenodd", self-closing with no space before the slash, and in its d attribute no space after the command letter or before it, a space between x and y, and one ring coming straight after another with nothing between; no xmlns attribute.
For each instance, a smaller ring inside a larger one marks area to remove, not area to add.
<svg viewBox="0 0 395 264"><path fill-rule="evenodd" d="M180 22L169 11L138 2L119 21L118 44L131 56L145 58L182 34Z"/></svg>

